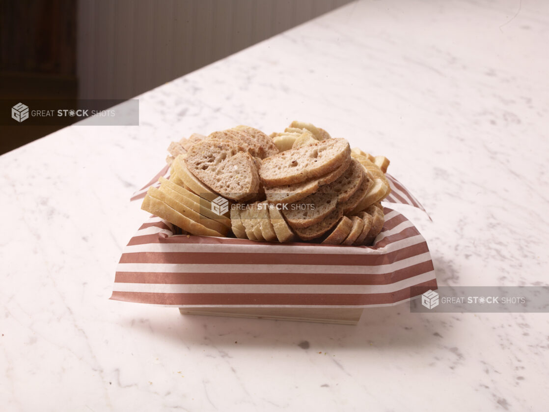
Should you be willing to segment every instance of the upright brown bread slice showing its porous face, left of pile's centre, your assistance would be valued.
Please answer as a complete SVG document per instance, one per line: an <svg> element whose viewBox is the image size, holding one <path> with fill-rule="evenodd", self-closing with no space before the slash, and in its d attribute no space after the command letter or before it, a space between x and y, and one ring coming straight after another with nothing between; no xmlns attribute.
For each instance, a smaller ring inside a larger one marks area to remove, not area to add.
<svg viewBox="0 0 549 412"><path fill-rule="evenodd" d="M189 149L185 163L195 177L227 199L238 201L259 190L254 159L227 142L200 141Z"/></svg>

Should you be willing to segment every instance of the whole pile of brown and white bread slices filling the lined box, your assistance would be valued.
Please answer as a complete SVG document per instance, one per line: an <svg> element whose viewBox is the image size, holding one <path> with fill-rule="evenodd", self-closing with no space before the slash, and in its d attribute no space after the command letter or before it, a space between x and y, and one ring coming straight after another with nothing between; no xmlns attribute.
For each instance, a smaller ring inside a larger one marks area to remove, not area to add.
<svg viewBox="0 0 549 412"><path fill-rule="evenodd" d="M195 133L169 152L170 179L142 209L192 235L362 245L382 230L389 160L312 124Z"/></svg>

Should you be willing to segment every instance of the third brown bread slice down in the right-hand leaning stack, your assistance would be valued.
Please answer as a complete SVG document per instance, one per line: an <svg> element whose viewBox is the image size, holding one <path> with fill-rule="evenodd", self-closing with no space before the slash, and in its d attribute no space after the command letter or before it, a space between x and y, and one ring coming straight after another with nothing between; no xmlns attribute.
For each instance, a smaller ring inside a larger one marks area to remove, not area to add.
<svg viewBox="0 0 549 412"><path fill-rule="evenodd" d="M365 179L365 172L360 163L351 160L351 163L339 179L329 185L322 186L316 193L310 194L299 202L292 203L284 216L292 227L308 227L320 222L339 203L348 199L361 187Z"/></svg>

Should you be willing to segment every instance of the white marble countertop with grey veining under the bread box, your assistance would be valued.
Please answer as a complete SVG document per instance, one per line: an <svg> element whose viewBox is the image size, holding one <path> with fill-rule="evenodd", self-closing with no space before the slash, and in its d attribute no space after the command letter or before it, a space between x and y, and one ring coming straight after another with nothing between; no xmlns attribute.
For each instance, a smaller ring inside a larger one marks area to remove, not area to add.
<svg viewBox="0 0 549 412"><path fill-rule="evenodd" d="M2 155L1 409L546 411L547 314L402 305L352 327L108 297L147 216L128 198L171 140L293 119L392 160L433 218L400 208L440 285L547 285L548 15L352 3L143 94L140 126L72 126Z"/></svg>

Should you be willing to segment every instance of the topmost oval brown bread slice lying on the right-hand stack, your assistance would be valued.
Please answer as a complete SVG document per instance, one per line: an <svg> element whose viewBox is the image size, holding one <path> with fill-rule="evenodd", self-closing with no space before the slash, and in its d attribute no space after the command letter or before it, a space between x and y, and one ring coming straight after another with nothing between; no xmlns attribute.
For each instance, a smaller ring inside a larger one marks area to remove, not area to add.
<svg viewBox="0 0 549 412"><path fill-rule="evenodd" d="M266 187L292 185L326 175L350 156L349 142L329 139L299 147L263 160L260 177Z"/></svg>

